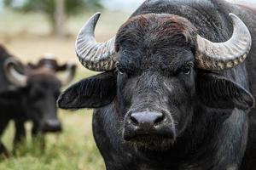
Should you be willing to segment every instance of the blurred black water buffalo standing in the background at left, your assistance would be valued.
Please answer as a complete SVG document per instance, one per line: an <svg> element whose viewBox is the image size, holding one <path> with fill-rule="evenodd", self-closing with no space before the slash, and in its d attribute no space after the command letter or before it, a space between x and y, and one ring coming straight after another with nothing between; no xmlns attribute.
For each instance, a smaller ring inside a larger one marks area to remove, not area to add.
<svg viewBox="0 0 256 170"><path fill-rule="evenodd" d="M75 65L58 65L49 57L36 65L22 65L0 47L0 66L0 135L10 120L15 121L15 143L26 135L24 123L28 120L32 120L33 135L60 132L55 101L61 85L73 79ZM65 75L57 77L58 72ZM7 151L0 142L1 153Z"/></svg>

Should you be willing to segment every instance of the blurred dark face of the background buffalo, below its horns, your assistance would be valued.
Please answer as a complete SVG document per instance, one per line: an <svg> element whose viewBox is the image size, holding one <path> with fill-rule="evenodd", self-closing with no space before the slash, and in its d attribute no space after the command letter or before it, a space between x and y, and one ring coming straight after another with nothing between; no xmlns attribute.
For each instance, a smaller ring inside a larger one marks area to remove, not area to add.
<svg viewBox="0 0 256 170"><path fill-rule="evenodd" d="M60 132L55 101L61 83L55 77L32 77L27 82L26 111L34 123L34 131Z"/></svg>

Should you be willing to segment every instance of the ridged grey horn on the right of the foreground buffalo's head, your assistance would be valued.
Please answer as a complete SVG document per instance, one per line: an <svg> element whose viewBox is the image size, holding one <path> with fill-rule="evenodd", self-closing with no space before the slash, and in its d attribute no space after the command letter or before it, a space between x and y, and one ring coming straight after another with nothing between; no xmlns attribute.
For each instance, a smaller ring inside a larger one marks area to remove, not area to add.
<svg viewBox="0 0 256 170"><path fill-rule="evenodd" d="M195 64L204 70L224 70L241 64L246 59L252 45L252 37L247 26L236 16L229 14L234 31L227 42L210 42L197 36Z"/></svg>

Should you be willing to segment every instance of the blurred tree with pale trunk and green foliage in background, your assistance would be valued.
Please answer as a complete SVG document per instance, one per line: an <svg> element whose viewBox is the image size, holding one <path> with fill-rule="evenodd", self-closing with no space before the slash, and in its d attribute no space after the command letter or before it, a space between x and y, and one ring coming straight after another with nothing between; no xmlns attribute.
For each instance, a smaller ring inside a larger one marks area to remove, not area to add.
<svg viewBox="0 0 256 170"><path fill-rule="evenodd" d="M68 16L79 13L80 10L102 8L101 0L24 0L15 5L17 0L4 0L6 7L23 12L42 11L47 15L55 35L65 35L64 23Z"/></svg>

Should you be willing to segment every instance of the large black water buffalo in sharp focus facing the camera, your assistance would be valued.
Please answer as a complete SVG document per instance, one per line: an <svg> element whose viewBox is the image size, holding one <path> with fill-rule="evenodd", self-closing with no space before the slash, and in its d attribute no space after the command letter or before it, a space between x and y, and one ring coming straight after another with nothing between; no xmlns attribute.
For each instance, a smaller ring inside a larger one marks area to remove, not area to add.
<svg viewBox="0 0 256 170"><path fill-rule="evenodd" d="M104 43L94 37L99 15L76 52L105 72L68 88L58 105L95 109L108 170L256 169L255 10L148 0Z"/></svg>

